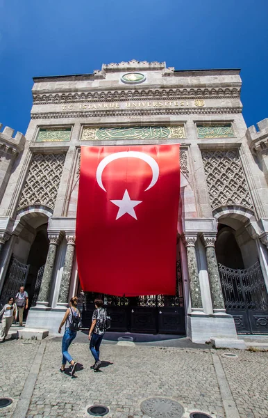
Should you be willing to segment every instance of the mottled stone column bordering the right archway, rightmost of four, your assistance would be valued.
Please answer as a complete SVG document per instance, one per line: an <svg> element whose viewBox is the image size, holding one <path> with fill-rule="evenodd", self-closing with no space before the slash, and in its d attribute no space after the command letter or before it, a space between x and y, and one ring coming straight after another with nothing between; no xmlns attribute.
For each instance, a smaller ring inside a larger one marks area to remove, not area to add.
<svg viewBox="0 0 268 418"><path fill-rule="evenodd" d="M210 295L212 300L213 312L225 313L224 296L221 290L221 280L219 278L219 270L217 257L215 252L215 236L201 235L203 245L206 248L206 258L208 263L208 277L210 281Z"/></svg>

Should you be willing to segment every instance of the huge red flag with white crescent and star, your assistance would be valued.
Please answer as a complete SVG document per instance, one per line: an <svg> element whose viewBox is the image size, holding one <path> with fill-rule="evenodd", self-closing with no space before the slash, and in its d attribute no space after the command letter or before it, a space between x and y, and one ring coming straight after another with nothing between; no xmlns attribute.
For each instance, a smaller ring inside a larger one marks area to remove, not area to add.
<svg viewBox="0 0 268 418"><path fill-rule="evenodd" d="M76 218L84 291L174 295L179 145L82 146Z"/></svg>

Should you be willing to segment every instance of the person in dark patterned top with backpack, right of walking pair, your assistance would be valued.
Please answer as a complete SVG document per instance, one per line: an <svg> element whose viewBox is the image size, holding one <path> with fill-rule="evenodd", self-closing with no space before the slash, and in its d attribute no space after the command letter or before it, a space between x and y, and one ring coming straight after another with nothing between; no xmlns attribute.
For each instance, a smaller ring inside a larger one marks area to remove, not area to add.
<svg viewBox="0 0 268 418"><path fill-rule="evenodd" d="M101 361L99 359L99 347L106 332L106 309L103 308L103 300L95 299L95 310L92 315L92 325L88 334L90 340L90 351L95 359L95 363L91 366L94 371L99 370Z"/></svg>

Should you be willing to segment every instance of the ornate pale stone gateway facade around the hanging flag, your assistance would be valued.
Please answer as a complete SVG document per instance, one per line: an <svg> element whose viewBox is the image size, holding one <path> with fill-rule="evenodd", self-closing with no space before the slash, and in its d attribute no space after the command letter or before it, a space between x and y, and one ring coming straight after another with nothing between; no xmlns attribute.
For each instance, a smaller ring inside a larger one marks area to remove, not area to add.
<svg viewBox="0 0 268 418"><path fill-rule="evenodd" d="M268 119L259 132L247 129L241 84L239 70L176 71L135 60L103 64L88 75L34 79L25 137L12 138L8 127L0 132L0 291L11 256L31 268L46 224L50 240L28 326L55 332L77 293L80 147L179 143L187 335L193 341L237 336L217 270L221 228L233 231L245 268L260 261L268 286Z"/></svg>

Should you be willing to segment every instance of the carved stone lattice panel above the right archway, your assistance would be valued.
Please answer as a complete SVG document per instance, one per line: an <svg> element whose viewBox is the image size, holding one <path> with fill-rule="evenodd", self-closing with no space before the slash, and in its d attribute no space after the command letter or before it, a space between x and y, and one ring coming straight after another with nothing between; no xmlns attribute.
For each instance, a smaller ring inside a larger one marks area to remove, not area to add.
<svg viewBox="0 0 268 418"><path fill-rule="evenodd" d="M239 205L253 210L238 150L202 150L212 209Z"/></svg>

